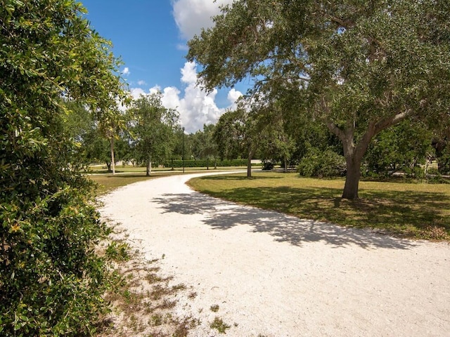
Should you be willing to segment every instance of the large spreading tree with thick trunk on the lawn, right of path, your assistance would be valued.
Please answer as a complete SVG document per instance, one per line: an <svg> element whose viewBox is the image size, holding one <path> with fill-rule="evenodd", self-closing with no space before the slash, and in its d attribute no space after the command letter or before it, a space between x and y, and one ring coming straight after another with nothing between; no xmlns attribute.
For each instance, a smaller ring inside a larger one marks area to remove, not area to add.
<svg viewBox="0 0 450 337"><path fill-rule="evenodd" d="M448 117L450 3L434 0L238 0L188 42L207 90L255 81L252 93L321 121L358 197L371 140L411 117Z"/></svg>

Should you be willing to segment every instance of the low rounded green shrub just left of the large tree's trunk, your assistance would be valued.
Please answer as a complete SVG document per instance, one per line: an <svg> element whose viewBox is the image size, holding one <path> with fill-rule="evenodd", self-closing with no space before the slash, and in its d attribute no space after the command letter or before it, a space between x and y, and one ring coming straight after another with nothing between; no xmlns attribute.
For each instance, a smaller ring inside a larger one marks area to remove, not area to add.
<svg viewBox="0 0 450 337"><path fill-rule="evenodd" d="M332 150L321 151L313 148L300 160L297 171L300 176L305 177L345 176L345 158Z"/></svg>

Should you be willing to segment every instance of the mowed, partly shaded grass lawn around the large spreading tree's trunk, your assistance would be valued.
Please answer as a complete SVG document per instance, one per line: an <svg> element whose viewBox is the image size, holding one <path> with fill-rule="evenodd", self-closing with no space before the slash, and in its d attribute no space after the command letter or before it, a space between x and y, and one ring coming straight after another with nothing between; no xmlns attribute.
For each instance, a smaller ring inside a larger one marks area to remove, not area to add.
<svg viewBox="0 0 450 337"><path fill-rule="evenodd" d="M273 172L252 176L207 176L188 184L214 197L299 218L370 228L397 237L450 240L450 184L361 181L361 199L349 201L340 198L343 178Z"/></svg>

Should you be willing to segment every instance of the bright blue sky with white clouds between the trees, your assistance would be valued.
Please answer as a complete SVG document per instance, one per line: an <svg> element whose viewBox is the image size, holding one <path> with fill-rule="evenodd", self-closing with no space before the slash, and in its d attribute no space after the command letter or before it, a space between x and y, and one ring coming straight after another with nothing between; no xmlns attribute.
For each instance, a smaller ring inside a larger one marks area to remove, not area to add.
<svg viewBox="0 0 450 337"><path fill-rule="evenodd" d="M189 64L186 41L209 27L219 4L232 0L82 0L86 18L113 42L121 71L135 97L162 91L162 103L176 108L189 133L215 123L240 95L236 89L206 95L195 87L197 68Z"/></svg>

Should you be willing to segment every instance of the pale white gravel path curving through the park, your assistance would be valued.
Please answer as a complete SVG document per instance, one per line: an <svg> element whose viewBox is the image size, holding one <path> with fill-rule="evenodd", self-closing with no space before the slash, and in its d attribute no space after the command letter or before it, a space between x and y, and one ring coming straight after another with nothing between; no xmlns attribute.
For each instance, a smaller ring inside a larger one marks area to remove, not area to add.
<svg viewBox="0 0 450 337"><path fill-rule="evenodd" d="M184 184L201 175L128 185L101 208L193 286L178 307L201 320L190 336L219 336L216 316L226 336L450 336L449 244L238 206Z"/></svg>

